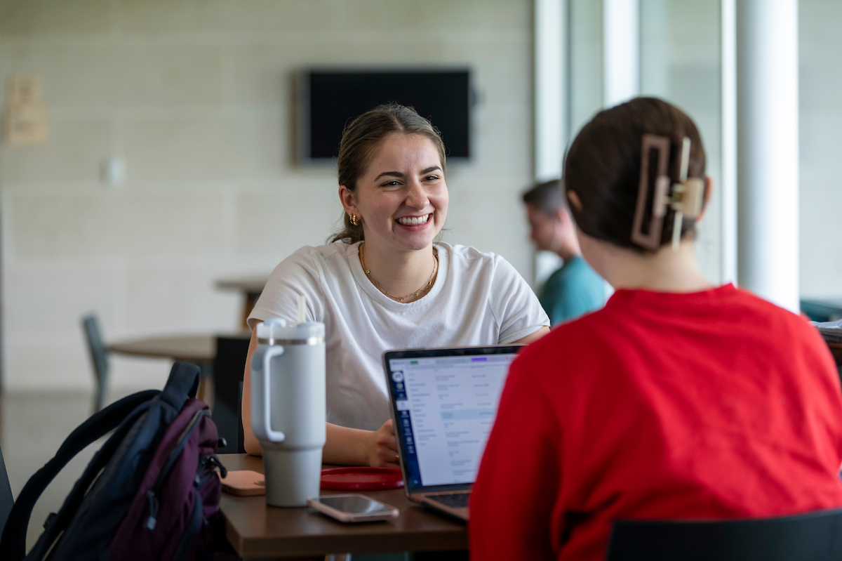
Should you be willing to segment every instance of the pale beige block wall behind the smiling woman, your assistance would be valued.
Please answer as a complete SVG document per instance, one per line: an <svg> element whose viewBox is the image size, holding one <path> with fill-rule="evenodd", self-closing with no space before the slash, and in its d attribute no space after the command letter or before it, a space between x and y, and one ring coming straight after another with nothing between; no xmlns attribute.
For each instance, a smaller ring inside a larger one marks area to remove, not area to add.
<svg viewBox="0 0 842 561"><path fill-rule="evenodd" d="M268 273L322 243L333 170L291 153L293 72L472 67L476 158L450 167L445 240L530 275L529 0L8 0L0 93L40 78L45 147L0 148L3 385L91 387L79 318L108 339L237 327L220 277ZM101 168L125 158L126 181ZM163 383L166 361L117 359L113 382Z"/></svg>

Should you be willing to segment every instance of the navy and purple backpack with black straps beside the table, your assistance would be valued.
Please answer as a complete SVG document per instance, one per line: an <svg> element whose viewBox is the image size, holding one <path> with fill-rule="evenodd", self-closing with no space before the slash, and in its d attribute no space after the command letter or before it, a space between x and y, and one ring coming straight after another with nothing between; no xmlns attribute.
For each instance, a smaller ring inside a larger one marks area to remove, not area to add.
<svg viewBox="0 0 842 561"><path fill-rule="evenodd" d="M9 514L0 558L24 559L32 507L61 468L89 443L115 433L93 457L29 561L237 559L218 511L225 475L216 425L195 399L198 366L176 362L163 392L136 393L94 414L29 479Z"/></svg>

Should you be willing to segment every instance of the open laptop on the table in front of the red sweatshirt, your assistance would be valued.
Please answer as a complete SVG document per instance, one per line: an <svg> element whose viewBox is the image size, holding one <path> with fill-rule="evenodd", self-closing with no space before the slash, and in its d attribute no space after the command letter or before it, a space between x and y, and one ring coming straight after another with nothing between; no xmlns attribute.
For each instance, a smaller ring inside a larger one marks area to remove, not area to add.
<svg viewBox="0 0 842 561"><path fill-rule="evenodd" d="M509 364L522 347L383 353L409 500L468 519L468 499Z"/></svg>

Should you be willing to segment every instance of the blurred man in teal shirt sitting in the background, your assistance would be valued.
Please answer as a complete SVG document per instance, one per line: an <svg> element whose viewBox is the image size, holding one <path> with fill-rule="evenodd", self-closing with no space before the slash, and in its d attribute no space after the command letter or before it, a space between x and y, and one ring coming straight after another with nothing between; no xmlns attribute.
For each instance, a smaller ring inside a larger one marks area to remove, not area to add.
<svg viewBox="0 0 842 561"><path fill-rule="evenodd" d="M524 193L523 200L536 248L552 251L564 261L538 294L550 322L556 325L602 307L605 282L582 258L561 182L553 179L536 184Z"/></svg>

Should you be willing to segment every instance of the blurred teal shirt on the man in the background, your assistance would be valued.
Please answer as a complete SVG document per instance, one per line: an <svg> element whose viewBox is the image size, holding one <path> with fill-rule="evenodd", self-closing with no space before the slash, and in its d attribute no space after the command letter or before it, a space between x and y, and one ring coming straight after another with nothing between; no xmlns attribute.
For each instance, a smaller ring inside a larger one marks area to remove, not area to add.
<svg viewBox="0 0 842 561"><path fill-rule="evenodd" d="M605 281L577 255L550 275L538 295L550 323L562 323L605 304Z"/></svg>

